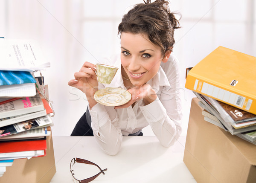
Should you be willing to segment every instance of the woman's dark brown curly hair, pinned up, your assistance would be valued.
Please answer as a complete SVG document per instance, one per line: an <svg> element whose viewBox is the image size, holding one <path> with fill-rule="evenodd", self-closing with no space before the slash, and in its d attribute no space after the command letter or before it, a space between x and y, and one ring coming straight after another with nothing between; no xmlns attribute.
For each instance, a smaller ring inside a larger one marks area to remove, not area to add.
<svg viewBox="0 0 256 183"><path fill-rule="evenodd" d="M153 3L151 0L143 1L123 16L118 34L131 32L148 35L149 40L160 46L165 54L175 43L174 29L180 28L180 23L175 13L170 12L167 0L156 0Z"/></svg>

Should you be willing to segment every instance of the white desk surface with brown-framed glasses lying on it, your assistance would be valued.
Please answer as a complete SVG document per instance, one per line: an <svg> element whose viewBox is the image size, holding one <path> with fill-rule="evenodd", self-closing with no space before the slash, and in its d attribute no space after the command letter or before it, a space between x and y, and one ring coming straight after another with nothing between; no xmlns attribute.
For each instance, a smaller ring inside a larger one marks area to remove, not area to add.
<svg viewBox="0 0 256 183"><path fill-rule="evenodd" d="M196 183L183 163L185 137L178 141L174 146L165 148L156 137L123 137L121 151L110 156L100 149L94 137L53 137L57 172L51 183L73 182L70 160L74 157L92 161L102 169L108 168L105 175L100 174L92 182ZM84 165L79 168L84 173L81 179L99 172L96 166L76 164Z"/></svg>

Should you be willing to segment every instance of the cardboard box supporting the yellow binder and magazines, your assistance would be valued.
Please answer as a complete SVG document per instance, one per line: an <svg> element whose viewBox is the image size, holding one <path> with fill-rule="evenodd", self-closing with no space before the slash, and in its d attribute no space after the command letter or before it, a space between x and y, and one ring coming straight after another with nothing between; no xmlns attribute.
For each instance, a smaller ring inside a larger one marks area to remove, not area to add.
<svg viewBox="0 0 256 183"><path fill-rule="evenodd" d="M256 145L204 121L191 102L183 162L198 183L256 183Z"/></svg>

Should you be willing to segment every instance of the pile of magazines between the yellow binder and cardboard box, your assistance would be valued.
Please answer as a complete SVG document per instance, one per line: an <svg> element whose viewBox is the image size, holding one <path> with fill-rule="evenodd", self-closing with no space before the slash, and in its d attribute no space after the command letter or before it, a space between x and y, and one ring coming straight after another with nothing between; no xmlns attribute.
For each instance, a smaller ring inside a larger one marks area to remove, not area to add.
<svg viewBox="0 0 256 183"><path fill-rule="evenodd" d="M196 93L204 120L256 145L256 115Z"/></svg>

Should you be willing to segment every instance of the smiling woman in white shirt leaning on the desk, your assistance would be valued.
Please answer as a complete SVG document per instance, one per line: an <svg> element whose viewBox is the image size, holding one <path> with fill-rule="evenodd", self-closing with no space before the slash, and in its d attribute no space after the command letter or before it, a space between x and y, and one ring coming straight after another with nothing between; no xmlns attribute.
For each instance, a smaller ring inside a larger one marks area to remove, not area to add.
<svg viewBox="0 0 256 183"><path fill-rule="evenodd" d="M72 136L94 135L103 151L111 155L121 149L122 136L142 135L147 125L163 146L177 141L181 132L180 74L171 53L179 22L168 4L166 0L147 0L124 15L118 26L121 55L101 63L119 67L111 84L99 84L96 67L89 62L74 74L76 79L68 84L84 92L89 105ZM104 87L124 88L132 98L122 106L101 105L93 96Z"/></svg>

